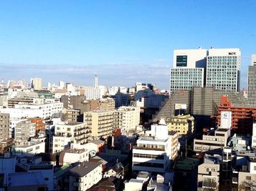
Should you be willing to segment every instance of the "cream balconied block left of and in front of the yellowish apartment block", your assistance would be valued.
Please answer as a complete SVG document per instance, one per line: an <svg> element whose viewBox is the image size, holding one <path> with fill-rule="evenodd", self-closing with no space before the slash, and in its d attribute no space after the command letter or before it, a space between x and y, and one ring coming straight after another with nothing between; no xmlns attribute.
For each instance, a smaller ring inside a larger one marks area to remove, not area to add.
<svg viewBox="0 0 256 191"><path fill-rule="evenodd" d="M61 152L70 148L71 142L77 142L82 145L90 140L90 128L86 123L61 122L55 125L54 136L52 137L52 153Z"/></svg>

